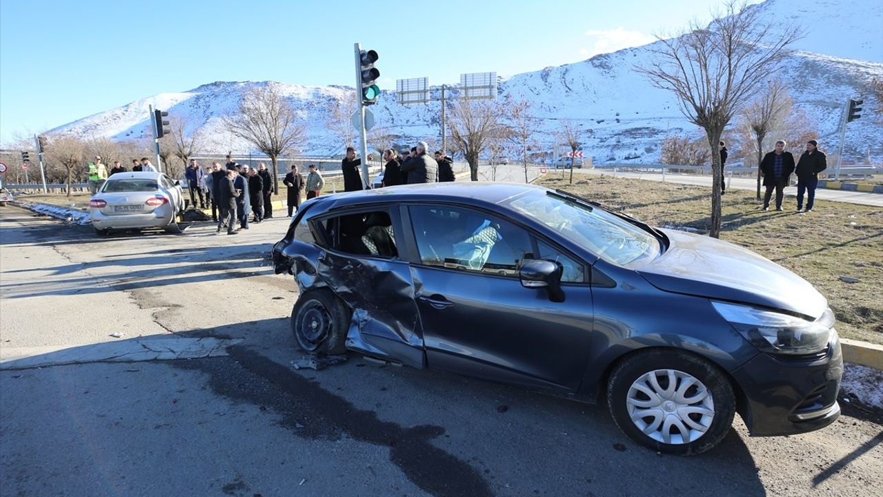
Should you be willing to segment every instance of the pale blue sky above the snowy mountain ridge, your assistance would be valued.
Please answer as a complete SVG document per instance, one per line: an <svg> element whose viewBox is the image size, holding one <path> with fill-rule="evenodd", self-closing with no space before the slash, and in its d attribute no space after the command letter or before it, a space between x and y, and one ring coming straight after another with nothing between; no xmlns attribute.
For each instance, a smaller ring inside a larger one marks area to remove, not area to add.
<svg viewBox="0 0 883 497"><path fill-rule="evenodd" d="M421 76L437 85L644 44L707 22L720 4L2 0L0 143L217 80L351 86L354 42L380 54L381 88Z"/></svg>

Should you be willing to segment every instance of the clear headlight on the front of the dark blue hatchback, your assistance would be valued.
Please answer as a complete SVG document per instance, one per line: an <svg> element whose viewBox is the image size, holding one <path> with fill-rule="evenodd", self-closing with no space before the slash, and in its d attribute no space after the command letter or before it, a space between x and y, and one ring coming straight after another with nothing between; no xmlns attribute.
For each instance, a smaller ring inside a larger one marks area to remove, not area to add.
<svg viewBox="0 0 883 497"><path fill-rule="evenodd" d="M834 312L827 308L815 321L772 310L727 302L712 302L714 310L763 352L804 355L825 350L834 326Z"/></svg>

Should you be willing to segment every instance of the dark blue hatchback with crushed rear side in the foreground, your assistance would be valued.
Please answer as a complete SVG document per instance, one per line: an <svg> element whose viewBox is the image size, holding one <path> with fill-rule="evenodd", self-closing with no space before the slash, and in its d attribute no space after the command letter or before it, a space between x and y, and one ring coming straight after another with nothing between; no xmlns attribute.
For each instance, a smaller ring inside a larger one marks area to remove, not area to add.
<svg viewBox="0 0 883 497"><path fill-rule="evenodd" d="M623 432L698 454L831 424L841 348L826 299L734 244L564 192L389 187L305 203L275 271L298 346L606 401Z"/></svg>

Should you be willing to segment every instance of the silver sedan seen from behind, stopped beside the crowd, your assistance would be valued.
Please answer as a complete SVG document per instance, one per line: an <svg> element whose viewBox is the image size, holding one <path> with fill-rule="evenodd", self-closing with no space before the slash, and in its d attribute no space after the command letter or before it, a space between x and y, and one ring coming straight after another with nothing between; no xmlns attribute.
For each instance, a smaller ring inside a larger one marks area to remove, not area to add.
<svg viewBox="0 0 883 497"><path fill-rule="evenodd" d="M89 200L98 234L140 228L177 232L177 214L183 210L181 182L162 172L117 172Z"/></svg>

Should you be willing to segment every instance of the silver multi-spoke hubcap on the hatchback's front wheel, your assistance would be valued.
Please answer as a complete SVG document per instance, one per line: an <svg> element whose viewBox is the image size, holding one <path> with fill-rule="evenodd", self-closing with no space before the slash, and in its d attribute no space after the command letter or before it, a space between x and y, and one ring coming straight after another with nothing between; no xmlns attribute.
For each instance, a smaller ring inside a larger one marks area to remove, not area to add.
<svg viewBox="0 0 883 497"><path fill-rule="evenodd" d="M645 373L631 384L626 405L638 430L672 445L697 440L714 419L711 392L683 371Z"/></svg>

